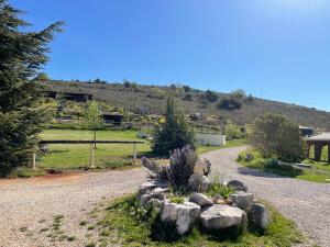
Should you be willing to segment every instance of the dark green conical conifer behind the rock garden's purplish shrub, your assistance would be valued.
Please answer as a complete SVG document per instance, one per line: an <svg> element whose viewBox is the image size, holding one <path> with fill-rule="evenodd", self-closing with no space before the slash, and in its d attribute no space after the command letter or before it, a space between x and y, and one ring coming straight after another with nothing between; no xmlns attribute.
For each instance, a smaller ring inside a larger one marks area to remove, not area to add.
<svg viewBox="0 0 330 247"><path fill-rule="evenodd" d="M170 150L183 148L186 145L194 147L195 133L185 115L179 112L173 98L167 99L165 123L155 128L152 149L156 154L167 155Z"/></svg>

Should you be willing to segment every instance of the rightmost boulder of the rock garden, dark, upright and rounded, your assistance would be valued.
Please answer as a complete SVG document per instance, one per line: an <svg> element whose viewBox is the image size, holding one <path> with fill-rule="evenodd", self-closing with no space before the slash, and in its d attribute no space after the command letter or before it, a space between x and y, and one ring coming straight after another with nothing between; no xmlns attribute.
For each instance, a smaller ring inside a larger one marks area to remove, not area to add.
<svg viewBox="0 0 330 247"><path fill-rule="evenodd" d="M263 204L253 203L249 212L249 225L253 231L264 232L271 223L271 214Z"/></svg>

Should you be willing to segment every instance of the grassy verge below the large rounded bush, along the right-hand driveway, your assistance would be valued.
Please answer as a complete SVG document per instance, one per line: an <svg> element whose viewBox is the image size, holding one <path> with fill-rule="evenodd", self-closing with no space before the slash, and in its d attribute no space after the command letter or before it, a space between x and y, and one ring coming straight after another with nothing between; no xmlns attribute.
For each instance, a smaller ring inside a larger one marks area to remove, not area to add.
<svg viewBox="0 0 330 247"><path fill-rule="evenodd" d="M240 154L238 161L249 168L254 168L272 173L276 173L284 177L302 179L311 182L320 182L320 183L329 183L330 182L330 172L329 167L327 165L311 162L311 169L296 169L285 166L276 166L271 158L263 158L262 155L257 151L249 151L252 153L253 158L251 160L244 159L246 157L248 151L243 151ZM305 160L305 162L307 162Z"/></svg>

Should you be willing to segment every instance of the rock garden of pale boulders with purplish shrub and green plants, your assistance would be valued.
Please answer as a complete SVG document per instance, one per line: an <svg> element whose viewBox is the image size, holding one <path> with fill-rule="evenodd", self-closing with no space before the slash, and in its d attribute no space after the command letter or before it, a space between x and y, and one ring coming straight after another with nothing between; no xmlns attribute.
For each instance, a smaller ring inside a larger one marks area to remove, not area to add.
<svg viewBox="0 0 330 247"><path fill-rule="evenodd" d="M179 238L198 227L219 238L244 231L263 234L271 223L267 207L238 180L210 179L211 164L189 148L176 149L168 166L143 158L150 181L138 192L141 209L152 211L156 239Z"/></svg>

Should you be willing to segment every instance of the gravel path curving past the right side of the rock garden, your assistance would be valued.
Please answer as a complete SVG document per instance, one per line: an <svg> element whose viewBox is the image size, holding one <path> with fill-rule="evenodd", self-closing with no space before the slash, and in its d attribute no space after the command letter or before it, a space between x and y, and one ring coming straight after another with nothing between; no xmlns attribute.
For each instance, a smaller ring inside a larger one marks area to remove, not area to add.
<svg viewBox="0 0 330 247"><path fill-rule="evenodd" d="M309 238L320 246L330 246L330 184L283 178L243 168L235 160L244 147L205 154L212 162L213 175L239 179L251 192L266 199L285 216L294 220Z"/></svg>

